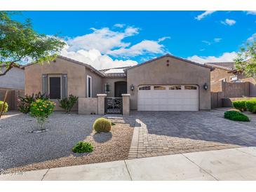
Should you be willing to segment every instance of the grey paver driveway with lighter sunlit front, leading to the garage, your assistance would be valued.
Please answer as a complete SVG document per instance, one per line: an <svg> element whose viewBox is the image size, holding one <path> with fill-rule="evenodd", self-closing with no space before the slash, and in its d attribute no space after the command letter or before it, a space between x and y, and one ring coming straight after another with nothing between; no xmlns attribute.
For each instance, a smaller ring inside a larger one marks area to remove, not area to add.
<svg viewBox="0 0 256 192"><path fill-rule="evenodd" d="M134 111L124 118L135 125L129 158L256 146L256 116L229 121L225 110Z"/></svg>

